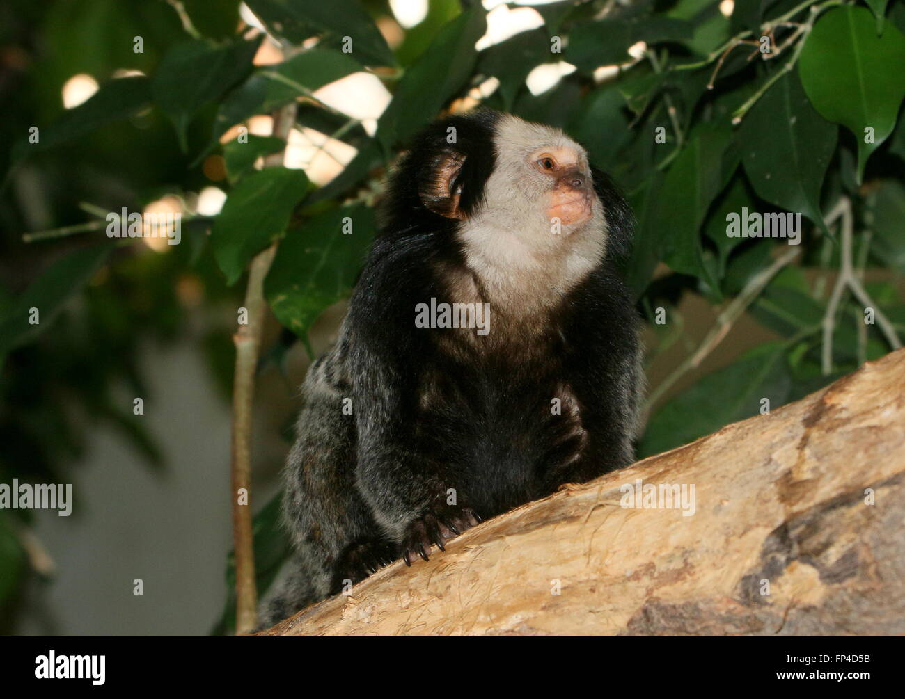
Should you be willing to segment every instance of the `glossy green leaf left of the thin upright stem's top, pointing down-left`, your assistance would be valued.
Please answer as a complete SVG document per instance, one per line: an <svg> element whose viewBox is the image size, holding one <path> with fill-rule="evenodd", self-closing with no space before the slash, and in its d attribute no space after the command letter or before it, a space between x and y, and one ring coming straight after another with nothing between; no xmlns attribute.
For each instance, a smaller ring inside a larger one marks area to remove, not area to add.
<svg viewBox="0 0 905 699"><path fill-rule="evenodd" d="M234 284L248 261L286 230L308 187L301 170L268 167L233 188L211 231L214 258L228 284Z"/></svg>

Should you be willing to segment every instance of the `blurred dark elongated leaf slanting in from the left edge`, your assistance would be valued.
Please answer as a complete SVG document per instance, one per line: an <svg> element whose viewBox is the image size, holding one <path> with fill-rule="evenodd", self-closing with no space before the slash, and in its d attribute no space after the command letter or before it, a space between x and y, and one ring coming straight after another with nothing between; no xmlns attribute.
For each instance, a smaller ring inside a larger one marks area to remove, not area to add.
<svg viewBox="0 0 905 699"><path fill-rule="evenodd" d="M112 245L108 242L80 248L44 269L24 294L0 315L0 362L10 350L31 342L52 326L53 318L63 304L88 283L110 250ZM29 322L32 308L38 309L37 325Z"/></svg>

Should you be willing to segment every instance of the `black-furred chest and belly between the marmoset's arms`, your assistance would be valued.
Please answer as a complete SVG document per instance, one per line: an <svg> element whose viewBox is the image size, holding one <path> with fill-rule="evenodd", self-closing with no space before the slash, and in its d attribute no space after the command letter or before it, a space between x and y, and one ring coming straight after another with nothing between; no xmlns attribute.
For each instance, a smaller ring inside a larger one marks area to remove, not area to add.
<svg viewBox="0 0 905 699"><path fill-rule="evenodd" d="M539 335L483 352L438 349L419 373L416 439L463 478L481 512L544 495L543 475L581 449L563 356L558 337Z"/></svg>

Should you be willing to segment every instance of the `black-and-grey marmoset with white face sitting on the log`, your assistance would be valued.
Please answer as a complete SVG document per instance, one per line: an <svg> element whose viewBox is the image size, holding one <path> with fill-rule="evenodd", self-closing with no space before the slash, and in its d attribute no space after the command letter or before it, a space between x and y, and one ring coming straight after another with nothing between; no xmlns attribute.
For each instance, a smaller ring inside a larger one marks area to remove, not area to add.
<svg viewBox="0 0 905 699"><path fill-rule="evenodd" d="M284 469L295 555L269 626L559 486L633 460L632 214L562 131L443 118L390 177Z"/></svg>

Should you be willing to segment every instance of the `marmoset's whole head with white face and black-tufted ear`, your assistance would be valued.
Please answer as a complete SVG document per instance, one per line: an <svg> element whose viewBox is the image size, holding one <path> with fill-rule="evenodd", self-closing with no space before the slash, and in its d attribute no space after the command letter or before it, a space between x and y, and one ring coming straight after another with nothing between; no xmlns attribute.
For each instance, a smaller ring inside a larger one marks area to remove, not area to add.
<svg viewBox="0 0 905 699"><path fill-rule="evenodd" d="M520 288L512 275L521 274L524 284L561 293L605 255L595 174L585 149L558 128L496 112L452 117L423 137L400 184L408 172L421 203L453 223L446 230L491 286Z"/></svg>

